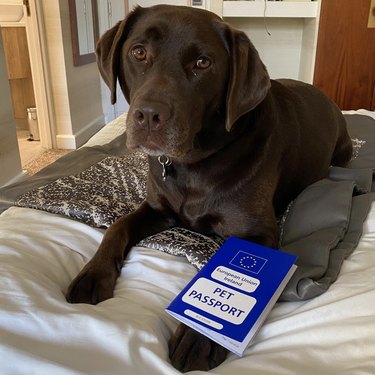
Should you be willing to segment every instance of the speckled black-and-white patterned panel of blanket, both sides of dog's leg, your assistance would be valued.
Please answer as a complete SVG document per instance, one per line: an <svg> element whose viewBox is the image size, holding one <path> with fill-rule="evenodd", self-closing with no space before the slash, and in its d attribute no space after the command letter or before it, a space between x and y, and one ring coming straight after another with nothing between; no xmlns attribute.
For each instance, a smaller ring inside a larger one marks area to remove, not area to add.
<svg viewBox="0 0 375 375"><path fill-rule="evenodd" d="M108 228L134 211L146 196L147 157L135 152L109 156L81 173L67 176L19 197L17 206L35 208ZM172 228L143 240L139 246L185 256L201 269L223 243L184 228Z"/></svg>

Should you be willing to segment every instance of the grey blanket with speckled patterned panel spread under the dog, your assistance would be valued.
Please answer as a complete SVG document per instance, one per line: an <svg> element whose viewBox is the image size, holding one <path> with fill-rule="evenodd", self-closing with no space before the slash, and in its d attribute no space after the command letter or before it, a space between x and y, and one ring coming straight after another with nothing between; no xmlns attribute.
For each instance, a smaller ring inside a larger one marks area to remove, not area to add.
<svg viewBox="0 0 375 375"><path fill-rule="evenodd" d="M280 248L298 255L299 266L282 300L313 298L329 288L356 247L375 198L375 121L360 115L346 118L356 146L349 168L332 168L327 179L309 186L280 218ZM129 153L125 137L77 150L25 182L0 189L0 210L31 207L108 227L146 194L146 157ZM140 245L185 256L199 269L222 241L173 228Z"/></svg>

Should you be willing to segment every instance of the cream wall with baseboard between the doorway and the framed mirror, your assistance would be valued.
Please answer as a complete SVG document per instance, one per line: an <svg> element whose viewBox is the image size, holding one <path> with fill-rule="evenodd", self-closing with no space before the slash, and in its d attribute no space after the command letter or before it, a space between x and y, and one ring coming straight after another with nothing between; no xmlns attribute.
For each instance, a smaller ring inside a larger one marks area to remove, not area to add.
<svg viewBox="0 0 375 375"><path fill-rule="evenodd" d="M48 62L58 148L77 148L103 125L100 78L96 63L74 66L69 6L43 1Z"/></svg>

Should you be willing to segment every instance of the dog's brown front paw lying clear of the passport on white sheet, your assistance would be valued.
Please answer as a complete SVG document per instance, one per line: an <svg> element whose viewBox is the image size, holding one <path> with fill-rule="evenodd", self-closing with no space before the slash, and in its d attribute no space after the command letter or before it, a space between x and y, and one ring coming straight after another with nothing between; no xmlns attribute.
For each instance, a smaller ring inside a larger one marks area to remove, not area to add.
<svg viewBox="0 0 375 375"><path fill-rule="evenodd" d="M99 302L113 297L118 273L115 268L88 263L86 267L71 282L66 300L69 303L89 303L96 305Z"/></svg>

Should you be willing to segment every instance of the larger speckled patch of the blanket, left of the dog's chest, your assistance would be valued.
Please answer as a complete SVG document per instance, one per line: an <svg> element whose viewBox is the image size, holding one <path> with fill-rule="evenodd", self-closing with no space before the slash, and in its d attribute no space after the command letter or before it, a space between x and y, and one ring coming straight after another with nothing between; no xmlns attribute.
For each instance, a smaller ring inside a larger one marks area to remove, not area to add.
<svg viewBox="0 0 375 375"><path fill-rule="evenodd" d="M16 205L108 228L144 200L147 173L147 156L143 153L109 156L77 175L21 195Z"/></svg>

